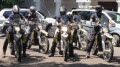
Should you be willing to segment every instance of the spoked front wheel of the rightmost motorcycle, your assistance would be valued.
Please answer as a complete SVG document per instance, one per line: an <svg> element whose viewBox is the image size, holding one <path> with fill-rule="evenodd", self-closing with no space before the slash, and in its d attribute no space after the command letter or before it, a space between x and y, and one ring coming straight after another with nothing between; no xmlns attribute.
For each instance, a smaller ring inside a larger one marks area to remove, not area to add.
<svg viewBox="0 0 120 67"><path fill-rule="evenodd" d="M114 48L110 41L105 42L105 47L103 51L103 58L105 61L110 62L113 58Z"/></svg>

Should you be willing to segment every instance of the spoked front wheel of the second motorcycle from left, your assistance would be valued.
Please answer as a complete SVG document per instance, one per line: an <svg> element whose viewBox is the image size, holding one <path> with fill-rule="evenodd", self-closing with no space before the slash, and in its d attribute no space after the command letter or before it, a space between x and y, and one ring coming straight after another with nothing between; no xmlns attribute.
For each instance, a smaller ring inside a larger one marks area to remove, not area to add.
<svg viewBox="0 0 120 67"><path fill-rule="evenodd" d="M42 36L41 37L41 43L39 45L39 51L41 53L46 54L48 52L48 50L49 50L49 40L48 40L47 37Z"/></svg>

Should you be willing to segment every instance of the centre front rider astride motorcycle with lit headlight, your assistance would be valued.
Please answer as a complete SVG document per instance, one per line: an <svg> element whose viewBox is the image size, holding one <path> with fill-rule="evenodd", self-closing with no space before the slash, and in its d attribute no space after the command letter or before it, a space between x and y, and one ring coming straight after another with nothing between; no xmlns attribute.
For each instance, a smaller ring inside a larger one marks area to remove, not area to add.
<svg viewBox="0 0 120 67"><path fill-rule="evenodd" d="M55 31L55 37L52 43L52 47L51 47L51 54L49 55L49 57L53 57L54 53L55 53L55 48L56 45L59 43L59 54L63 54L63 52L61 51L61 24L67 25L69 22L71 22L71 19L69 18L68 15L66 15L66 8L65 7L61 7L60 8L60 16L56 17L56 23L57 23L57 29ZM71 50L71 54L70 56L73 56L73 49Z"/></svg>

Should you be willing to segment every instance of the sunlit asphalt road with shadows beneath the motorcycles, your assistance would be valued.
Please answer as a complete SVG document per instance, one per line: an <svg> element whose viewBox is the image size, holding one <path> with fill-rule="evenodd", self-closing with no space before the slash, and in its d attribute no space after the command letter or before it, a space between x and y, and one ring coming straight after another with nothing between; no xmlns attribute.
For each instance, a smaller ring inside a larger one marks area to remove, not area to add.
<svg viewBox="0 0 120 67"><path fill-rule="evenodd" d="M49 39L50 44L52 39ZM55 57L48 57L48 54L38 52L38 46L32 46L27 50L27 58L22 58L22 62L17 62L16 58L10 55L9 48L5 58L2 58L2 46L4 38L0 38L0 67L120 67L120 47L114 47L114 58L111 63L105 62L102 53L98 56L91 55L85 58L85 52L75 50L75 58L68 62L63 61L63 57L56 51Z"/></svg>

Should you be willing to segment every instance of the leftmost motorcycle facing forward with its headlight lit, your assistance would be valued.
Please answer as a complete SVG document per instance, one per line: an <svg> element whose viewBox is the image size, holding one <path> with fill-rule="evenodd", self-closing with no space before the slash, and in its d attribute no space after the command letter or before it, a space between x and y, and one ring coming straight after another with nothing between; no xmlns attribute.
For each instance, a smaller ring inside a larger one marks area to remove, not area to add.
<svg viewBox="0 0 120 67"><path fill-rule="evenodd" d="M22 37L24 35L24 31L22 30L22 24L21 24L22 20L17 20L17 22L14 22L12 24L12 28L13 28L13 43L9 41L9 45L10 45L10 51L11 54L14 55L18 62L21 61L21 52L23 49L23 40ZM8 37L11 37L8 34ZM10 39L10 38L9 38Z"/></svg>

